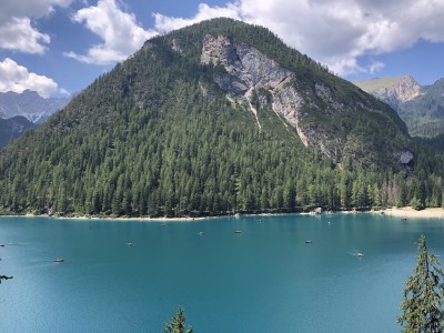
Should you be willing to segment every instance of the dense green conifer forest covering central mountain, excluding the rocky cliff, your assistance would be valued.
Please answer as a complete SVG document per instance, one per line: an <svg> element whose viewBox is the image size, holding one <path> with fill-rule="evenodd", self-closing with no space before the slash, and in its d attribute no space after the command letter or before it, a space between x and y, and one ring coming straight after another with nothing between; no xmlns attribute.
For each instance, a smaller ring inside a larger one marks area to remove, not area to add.
<svg viewBox="0 0 444 333"><path fill-rule="evenodd" d="M157 37L0 152L1 211L194 216L443 205L444 155L424 143L408 168L334 163L260 103L259 131L252 112L213 82L223 69L199 61L211 29L253 43L306 81L336 80L344 97L356 91L263 28L219 19Z"/></svg>

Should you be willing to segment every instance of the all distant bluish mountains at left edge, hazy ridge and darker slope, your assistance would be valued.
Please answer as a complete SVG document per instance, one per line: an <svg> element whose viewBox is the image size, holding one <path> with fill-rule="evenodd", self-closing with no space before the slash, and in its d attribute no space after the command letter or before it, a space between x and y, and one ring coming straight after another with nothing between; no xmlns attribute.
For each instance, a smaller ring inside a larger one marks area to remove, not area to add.
<svg viewBox="0 0 444 333"><path fill-rule="evenodd" d="M0 148L19 138L26 129L42 124L51 114L63 109L69 98L40 97L36 91L0 92Z"/></svg>

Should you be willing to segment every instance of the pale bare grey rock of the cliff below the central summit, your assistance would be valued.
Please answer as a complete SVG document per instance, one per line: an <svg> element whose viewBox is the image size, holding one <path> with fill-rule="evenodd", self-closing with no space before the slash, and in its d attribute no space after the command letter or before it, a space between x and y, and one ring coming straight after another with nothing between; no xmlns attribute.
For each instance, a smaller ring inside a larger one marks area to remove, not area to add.
<svg viewBox="0 0 444 333"><path fill-rule="evenodd" d="M234 44L230 38L206 34L203 40L201 63L223 65L226 73L214 74L214 82L229 94L230 100L238 99L248 102L250 111L255 115L258 127L261 123L258 112L252 105L253 95L258 95L261 104L270 104L284 124L293 127L302 143L309 148L319 148L324 154L335 161L341 159L337 150L329 149L329 138L309 128L301 127L302 108L309 104L292 82L294 72L284 69L259 50L245 43ZM261 90L268 91L269 98L261 98ZM329 108L339 108L332 102L331 91L322 83L315 84L315 94L329 103Z"/></svg>

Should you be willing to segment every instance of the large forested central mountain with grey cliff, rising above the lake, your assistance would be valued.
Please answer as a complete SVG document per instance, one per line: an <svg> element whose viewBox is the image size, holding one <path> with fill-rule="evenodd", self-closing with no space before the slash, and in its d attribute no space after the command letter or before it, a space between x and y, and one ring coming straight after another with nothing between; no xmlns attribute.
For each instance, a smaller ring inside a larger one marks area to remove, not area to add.
<svg viewBox="0 0 444 333"><path fill-rule="evenodd" d="M0 151L0 206L179 216L436 205L437 159L387 104L268 29L214 19L150 39Z"/></svg>

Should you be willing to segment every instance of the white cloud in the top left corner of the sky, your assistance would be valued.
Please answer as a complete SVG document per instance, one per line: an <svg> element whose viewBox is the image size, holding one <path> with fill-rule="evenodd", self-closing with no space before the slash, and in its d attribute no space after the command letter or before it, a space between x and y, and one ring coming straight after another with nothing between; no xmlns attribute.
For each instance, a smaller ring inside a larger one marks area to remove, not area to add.
<svg viewBox="0 0 444 333"><path fill-rule="evenodd" d="M0 49L26 53L43 53L50 37L32 27L31 19L48 16L54 7L72 0L1 0Z"/></svg>

